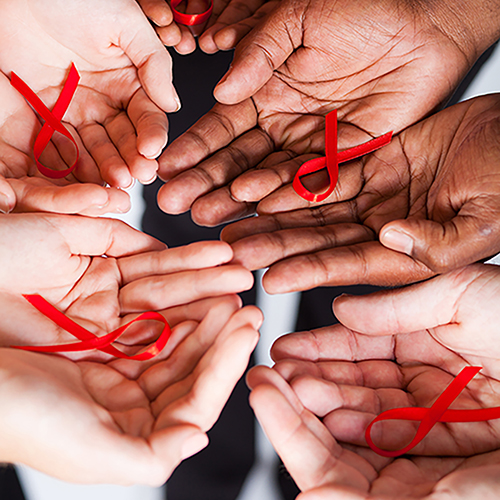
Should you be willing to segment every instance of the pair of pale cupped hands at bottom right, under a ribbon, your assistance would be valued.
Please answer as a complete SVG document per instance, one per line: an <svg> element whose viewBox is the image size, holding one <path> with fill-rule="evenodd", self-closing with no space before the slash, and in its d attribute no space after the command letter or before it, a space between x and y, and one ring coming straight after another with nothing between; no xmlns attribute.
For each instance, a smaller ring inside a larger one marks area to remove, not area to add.
<svg viewBox="0 0 500 500"><path fill-rule="evenodd" d="M482 366L451 408L500 406L496 266L474 265L411 287L342 296L342 324L280 338L273 369L248 376L251 404L302 495L299 499L495 498L497 420L438 423L408 455L364 441L382 411L429 407L464 366ZM400 449L407 421L377 424L375 443Z"/></svg>

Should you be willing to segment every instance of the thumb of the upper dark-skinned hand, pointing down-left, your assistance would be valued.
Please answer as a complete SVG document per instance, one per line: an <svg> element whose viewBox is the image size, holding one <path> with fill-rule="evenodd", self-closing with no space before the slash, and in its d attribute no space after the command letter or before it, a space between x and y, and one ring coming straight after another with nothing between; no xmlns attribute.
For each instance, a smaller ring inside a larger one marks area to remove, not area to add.
<svg viewBox="0 0 500 500"><path fill-rule="evenodd" d="M236 47L233 63L214 90L223 104L253 96L302 43L302 16L282 1Z"/></svg>

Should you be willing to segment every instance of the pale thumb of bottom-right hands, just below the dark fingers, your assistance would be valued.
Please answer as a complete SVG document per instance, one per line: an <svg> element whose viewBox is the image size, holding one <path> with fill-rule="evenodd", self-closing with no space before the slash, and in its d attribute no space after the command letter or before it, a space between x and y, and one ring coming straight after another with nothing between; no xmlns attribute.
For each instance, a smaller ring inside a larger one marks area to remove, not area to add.
<svg viewBox="0 0 500 500"><path fill-rule="evenodd" d="M483 271L474 267L399 290L341 296L334 302L334 311L347 327L369 334L391 335L446 325L455 317L460 297Z"/></svg>

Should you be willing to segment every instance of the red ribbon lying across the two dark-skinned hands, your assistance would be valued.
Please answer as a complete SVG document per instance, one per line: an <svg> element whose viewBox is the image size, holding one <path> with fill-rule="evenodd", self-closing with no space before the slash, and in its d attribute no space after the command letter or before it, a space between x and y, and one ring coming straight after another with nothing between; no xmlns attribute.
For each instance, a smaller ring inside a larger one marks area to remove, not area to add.
<svg viewBox="0 0 500 500"><path fill-rule="evenodd" d="M326 127L325 127L325 153L326 156L321 158L314 158L312 160L303 163L295 177L293 179L293 189L295 192L304 200L307 201L323 201L328 196L333 193L335 186L337 185L337 180L339 177L339 164L344 163L349 160L354 160L360 156L364 156L368 153L387 146L391 142L392 132L381 135L376 139L360 144L345 151L337 152L337 110L334 109L326 115ZM313 174L319 172L326 167L328 172L328 177L330 178L330 184L328 189L324 193L312 193L303 184L300 178L303 175Z"/></svg>

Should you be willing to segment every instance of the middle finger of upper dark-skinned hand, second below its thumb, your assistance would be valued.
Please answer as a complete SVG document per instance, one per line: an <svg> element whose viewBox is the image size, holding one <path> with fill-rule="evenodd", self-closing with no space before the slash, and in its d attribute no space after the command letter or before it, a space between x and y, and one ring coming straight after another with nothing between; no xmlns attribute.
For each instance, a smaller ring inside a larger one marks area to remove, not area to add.
<svg viewBox="0 0 500 500"><path fill-rule="evenodd" d="M270 138L259 129L237 137L226 148L167 182L158 194L162 210L170 214L189 210L201 196L226 186L242 172L257 165L272 148Z"/></svg>

